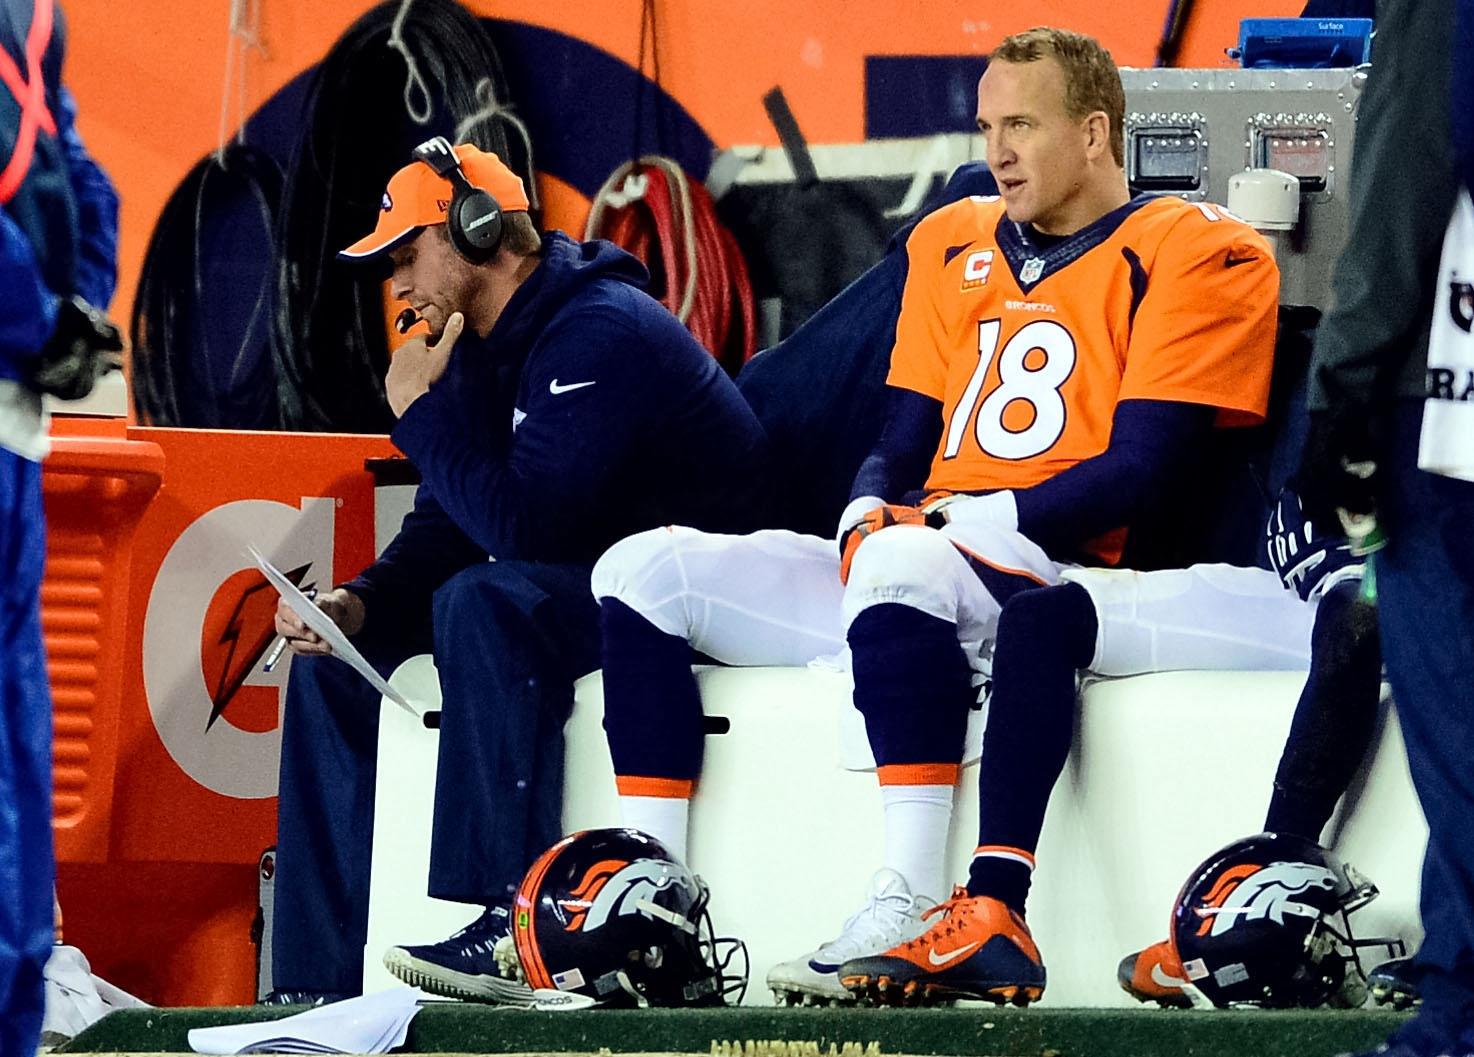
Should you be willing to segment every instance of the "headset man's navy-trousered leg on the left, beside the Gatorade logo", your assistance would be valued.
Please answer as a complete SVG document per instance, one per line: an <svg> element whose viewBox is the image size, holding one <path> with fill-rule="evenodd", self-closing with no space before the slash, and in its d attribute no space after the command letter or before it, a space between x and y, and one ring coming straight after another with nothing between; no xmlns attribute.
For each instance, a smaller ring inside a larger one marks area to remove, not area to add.
<svg viewBox="0 0 1474 1057"><path fill-rule="evenodd" d="M427 629L371 613L358 650L389 675ZM282 715L271 980L280 995L355 995L368 933L380 696L336 657L292 657Z"/></svg>

